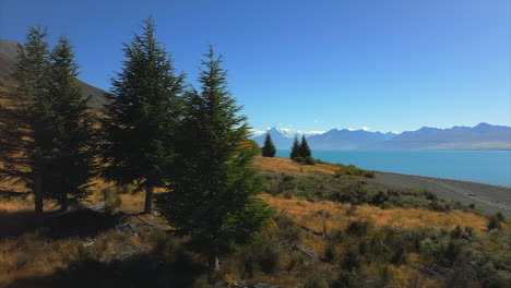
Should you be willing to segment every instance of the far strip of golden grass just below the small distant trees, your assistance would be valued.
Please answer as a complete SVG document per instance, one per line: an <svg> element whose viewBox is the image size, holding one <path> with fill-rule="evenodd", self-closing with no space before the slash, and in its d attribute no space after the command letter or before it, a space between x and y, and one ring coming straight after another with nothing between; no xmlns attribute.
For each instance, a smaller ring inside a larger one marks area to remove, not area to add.
<svg viewBox="0 0 511 288"><path fill-rule="evenodd" d="M253 165L261 171L284 172L292 175L312 175L317 172L334 173L336 168L331 165L301 165L287 158L255 156Z"/></svg>

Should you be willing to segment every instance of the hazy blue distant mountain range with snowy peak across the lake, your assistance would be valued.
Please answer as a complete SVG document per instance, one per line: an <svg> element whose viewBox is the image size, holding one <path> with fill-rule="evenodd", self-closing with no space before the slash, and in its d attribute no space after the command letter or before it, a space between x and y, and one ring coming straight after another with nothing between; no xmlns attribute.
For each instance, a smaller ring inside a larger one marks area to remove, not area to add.
<svg viewBox="0 0 511 288"><path fill-rule="evenodd" d="M289 129L268 130L278 149L289 149L298 132ZM401 134L365 130L332 129L322 134L306 135L312 149L511 149L511 127L479 123L476 127L438 129L423 127ZM264 134L252 139L263 144Z"/></svg>

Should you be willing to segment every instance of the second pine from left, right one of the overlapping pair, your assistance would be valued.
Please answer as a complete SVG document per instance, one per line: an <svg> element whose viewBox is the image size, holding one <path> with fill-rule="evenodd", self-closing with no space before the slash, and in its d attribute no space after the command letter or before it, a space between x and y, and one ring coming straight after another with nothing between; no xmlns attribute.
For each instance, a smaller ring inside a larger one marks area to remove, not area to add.
<svg viewBox="0 0 511 288"><path fill-rule="evenodd" d="M61 209L90 194L95 156L94 118L78 85L78 64L69 40L61 37L51 53L46 101L50 104L52 140L51 160L45 191L57 200Z"/></svg>

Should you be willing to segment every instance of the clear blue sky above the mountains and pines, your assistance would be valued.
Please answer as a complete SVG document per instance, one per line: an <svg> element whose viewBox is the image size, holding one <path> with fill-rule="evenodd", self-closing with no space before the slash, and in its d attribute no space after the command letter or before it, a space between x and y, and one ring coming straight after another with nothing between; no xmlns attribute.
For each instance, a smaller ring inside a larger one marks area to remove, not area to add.
<svg viewBox="0 0 511 288"><path fill-rule="evenodd" d="M407 131L511 124L509 0L0 2L0 38L67 35L81 79L109 89L122 43L153 14L178 71L212 44L253 128Z"/></svg>

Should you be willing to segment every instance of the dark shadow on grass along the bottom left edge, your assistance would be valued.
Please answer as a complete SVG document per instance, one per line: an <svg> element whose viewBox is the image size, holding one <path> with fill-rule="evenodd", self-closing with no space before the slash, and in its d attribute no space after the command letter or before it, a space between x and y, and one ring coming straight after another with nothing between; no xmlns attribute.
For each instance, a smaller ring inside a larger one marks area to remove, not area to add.
<svg viewBox="0 0 511 288"><path fill-rule="evenodd" d="M188 263L165 263L155 252L109 264L92 260L71 263L52 275L16 279L8 288L32 287L192 287L204 271Z"/></svg>

